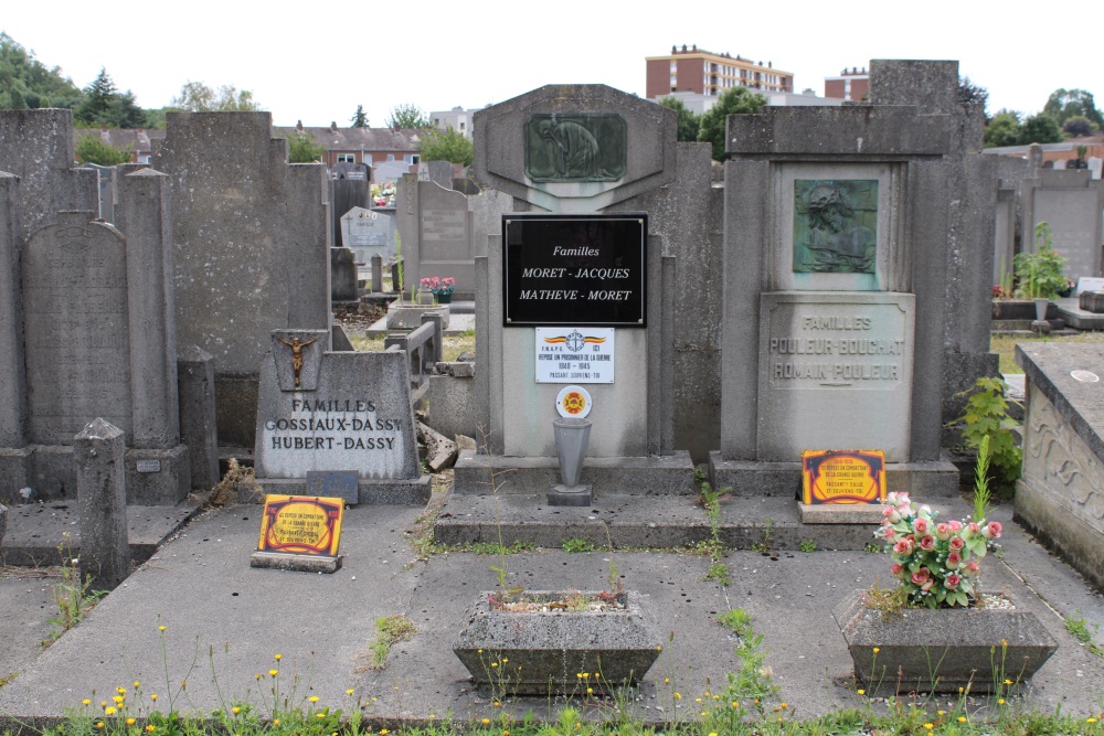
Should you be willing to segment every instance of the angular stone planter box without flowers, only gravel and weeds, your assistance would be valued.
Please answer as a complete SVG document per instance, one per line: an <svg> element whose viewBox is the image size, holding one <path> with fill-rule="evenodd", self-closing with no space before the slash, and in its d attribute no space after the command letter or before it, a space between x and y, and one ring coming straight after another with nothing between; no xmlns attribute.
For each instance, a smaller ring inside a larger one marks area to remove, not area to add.
<svg viewBox="0 0 1104 736"><path fill-rule="evenodd" d="M509 695L606 694L636 684L655 663L662 638L645 620L635 593L613 610L495 610L485 593L468 611L453 651L476 685ZM516 599L564 601L596 591L531 590ZM496 666L491 666L496 664ZM588 678L580 678L580 673ZM595 673L599 673L596 676Z"/></svg>

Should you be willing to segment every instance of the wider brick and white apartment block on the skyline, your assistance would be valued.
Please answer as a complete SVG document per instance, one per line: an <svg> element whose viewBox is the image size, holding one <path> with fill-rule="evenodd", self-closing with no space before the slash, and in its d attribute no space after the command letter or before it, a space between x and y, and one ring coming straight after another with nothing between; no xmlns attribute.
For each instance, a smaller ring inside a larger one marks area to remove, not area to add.
<svg viewBox="0 0 1104 736"><path fill-rule="evenodd" d="M753 62L740 54L714 54L693 45L671 46L667 56L648 56L648 99L666 97L672 92L690 92L716 96L730 87L749 87L764 92L793 92L794 75L774 68L773 62Z"/></svg>

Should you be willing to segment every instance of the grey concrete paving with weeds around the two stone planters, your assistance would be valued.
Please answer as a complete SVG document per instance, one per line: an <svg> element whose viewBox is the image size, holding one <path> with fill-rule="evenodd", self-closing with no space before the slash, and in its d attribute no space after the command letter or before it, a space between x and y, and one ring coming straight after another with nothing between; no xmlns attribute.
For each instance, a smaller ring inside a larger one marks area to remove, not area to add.
<svg viewBox="0 0 1104 736"><path fill-rule="evenodd" d="M261 506L206 509L45 649L63 569L6 568L0 733L20 724L41 729L63 716L73 728L63 733L98 733L100 703L115 707L116 689L126 691L117 704L125 710L114 715L131 714L138 728L161 723L145 719L152 711L176 710L222 719L222 733L330 733L337 710L347 721L359 714L350 730L376 734L638 733L672 724L680 733L743 733L730 721L734 713L757 724L746 733L1100 733L1104 599L1020 530L1009 504L994 516L1005 523L1005 555L985 561L984 587L1036 614L1059 650L1030 683L1007 672L1015 684L997 695L931 696L888 676L871 697L852 678L830 609L853 589L890 585L888 556L776 548L769 532L754 548L725 550L715 561L700 545L512 545L508 579L530 589L598 589L613 561L662 631L662 653L639 691L613 698L587 696L582 679L570 702L476 690L450 650L471 604L495 588L489 566L499 558L487 554L495 544L433 542L436 516L449 510L447 482L435 479L424 509L350 509L344 565L332 575L251 568ZM601 500L560 511L627 523ZM739 514L721 505L722 523ZM710 574L716 562L728 580ZM396 615L414 632L388 652L376 622ZM275 713L274 702L316 723ZM263 723L250 726L250 718ZM274 718L299 725L280 730ZM82 724L88 730L77 729ZM125 719L109 727L130 733Z"/></svg>

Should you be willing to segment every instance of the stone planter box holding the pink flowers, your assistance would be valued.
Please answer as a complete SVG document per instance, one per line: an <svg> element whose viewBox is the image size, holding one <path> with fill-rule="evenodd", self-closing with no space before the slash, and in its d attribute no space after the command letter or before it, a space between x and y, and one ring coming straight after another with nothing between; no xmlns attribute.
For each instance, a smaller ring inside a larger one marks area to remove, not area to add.
<svg viewBox="0 0 1104 736"><path fill-rule="evenodd" d="M1000 608L905 608L882 616L857 590L832 609L854 676L883 692L988 693L995 683L1031 678L1058 642L1034 615ZM1005 648L1002 642L1007 641ZM874 653L874 648L878 653Z"/></svg>

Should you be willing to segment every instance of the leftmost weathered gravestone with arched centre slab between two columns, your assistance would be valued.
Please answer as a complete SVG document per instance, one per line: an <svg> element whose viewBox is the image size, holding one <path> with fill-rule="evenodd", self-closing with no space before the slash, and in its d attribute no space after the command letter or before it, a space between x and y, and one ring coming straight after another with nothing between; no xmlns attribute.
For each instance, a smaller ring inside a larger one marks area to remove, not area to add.
<svg viewBox="0 0 1104 736"><path fill-rule="evenodd" d="M128 501L177 503L191 473L180 441L166 177L141 169L118 178L114 226L95 210L44 211L95 202L96 179L51 162L72 161L68 111L36 113L0 113L10 135L0 154L19 149L22 159L8 163L23 172L0 173L0 499L74 498L73 437L104 417L124 433Z"/></svg>

